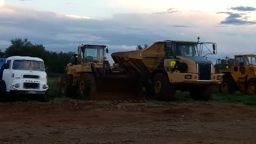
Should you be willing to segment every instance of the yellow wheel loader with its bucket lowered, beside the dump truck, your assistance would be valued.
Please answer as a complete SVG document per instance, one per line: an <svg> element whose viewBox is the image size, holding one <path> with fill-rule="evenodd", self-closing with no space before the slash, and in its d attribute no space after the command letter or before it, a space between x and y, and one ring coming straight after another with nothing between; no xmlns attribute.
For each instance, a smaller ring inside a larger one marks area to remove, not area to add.
<svg viewBox="0 0 256 144"><path fill-rule="evenodd" d="M87 100L144 102L140 77L122 69L114 70L106 60L108 46L82 44L67 74L59 78L60 95ZM118 69L118 68L117 68Z"/></svg>

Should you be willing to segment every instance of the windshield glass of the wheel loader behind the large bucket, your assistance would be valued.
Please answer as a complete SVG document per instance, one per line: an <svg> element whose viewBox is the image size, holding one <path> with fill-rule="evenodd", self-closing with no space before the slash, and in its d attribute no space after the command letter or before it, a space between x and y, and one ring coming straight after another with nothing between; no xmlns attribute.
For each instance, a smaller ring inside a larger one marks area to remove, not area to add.
<svg viewBox="0 0 256 144"><path fill-rule="evenodd" d="M102 46L86 47L85 60L87 62L103 62L104 48Z"/></svg>

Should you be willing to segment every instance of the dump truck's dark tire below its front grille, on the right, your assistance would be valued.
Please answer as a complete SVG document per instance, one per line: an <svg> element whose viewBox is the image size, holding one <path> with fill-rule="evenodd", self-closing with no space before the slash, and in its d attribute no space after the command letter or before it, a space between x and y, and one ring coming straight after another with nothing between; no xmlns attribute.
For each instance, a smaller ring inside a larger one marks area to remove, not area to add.
<svg viewBox="0 0 256 144"><path fill-rule="evenodd" d="M212 97L212 87L211 86L196 86L190 89L190 97L193 100L203 100L208 101Z"/></svg>

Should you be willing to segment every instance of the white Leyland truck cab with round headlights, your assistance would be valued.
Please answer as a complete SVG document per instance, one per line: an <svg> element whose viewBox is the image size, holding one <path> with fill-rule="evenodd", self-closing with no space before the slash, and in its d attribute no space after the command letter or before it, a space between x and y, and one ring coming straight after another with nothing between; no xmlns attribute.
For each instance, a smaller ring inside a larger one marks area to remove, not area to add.
<svg viewBox="0 0 256 144"><path fill-rule="evenodd" d="M1 84L6 92L15 94L48 94L44 60L28 56L11 56L6 59L8 68L3 71Z"/></svg>

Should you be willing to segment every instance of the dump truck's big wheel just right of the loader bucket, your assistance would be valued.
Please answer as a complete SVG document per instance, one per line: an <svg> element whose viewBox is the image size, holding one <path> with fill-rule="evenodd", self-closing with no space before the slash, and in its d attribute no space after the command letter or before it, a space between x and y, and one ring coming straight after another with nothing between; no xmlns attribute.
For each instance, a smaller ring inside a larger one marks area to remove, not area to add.
<svg viewBox="0 0 256 144"><path fill-rule="evenodd" d="M162 101L172 100L176 90L170 85L169 78L163 73L157 73L152 82L153 95Z"/></svg>

